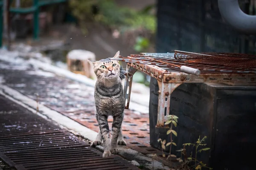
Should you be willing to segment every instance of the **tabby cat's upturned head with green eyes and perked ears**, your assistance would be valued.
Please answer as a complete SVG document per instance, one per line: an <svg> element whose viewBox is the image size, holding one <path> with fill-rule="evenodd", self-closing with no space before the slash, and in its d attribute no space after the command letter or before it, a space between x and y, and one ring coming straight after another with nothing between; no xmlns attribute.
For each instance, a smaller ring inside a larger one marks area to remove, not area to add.
<svg viewBox="0 0 256 170"><path fill-rule="evenodd" d="M119 51L113 58L119 58ZM99 61L90 61L93 64L93 71L97 79L104 81L104 79L114 80L120 77L120 64L117 60L101 59Z"/></svg>

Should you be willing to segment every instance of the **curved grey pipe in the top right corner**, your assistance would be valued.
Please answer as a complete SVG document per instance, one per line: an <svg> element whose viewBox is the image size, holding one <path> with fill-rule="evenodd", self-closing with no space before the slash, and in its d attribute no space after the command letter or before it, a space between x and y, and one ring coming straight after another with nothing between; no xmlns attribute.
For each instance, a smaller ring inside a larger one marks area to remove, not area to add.
<svg viewBox="0 0 256 170"><path fill-rule="evenodd" d="M256 16L245 14L238 0L218 0L218 7L224 20L236 30L256 34Z"/></svg>

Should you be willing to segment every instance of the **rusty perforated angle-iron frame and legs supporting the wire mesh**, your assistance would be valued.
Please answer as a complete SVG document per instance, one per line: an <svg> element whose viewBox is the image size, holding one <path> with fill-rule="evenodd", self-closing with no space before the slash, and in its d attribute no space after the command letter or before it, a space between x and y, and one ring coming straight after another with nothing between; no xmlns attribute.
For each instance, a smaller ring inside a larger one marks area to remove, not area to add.
<svg viewBox="0 0 256 170"><path fill-rule="evenodd" d="M157 126L166 128L164 122L168 120L170 110L170 95L182 83L256 83L256 74L200 74L199 76L186 74L179 71L170 71L155 65L140 63L127 63L127 74L125 81L125 108L129 108L131 95L132 77L140 70L145 74L157 79L159 85Z"/></svg>

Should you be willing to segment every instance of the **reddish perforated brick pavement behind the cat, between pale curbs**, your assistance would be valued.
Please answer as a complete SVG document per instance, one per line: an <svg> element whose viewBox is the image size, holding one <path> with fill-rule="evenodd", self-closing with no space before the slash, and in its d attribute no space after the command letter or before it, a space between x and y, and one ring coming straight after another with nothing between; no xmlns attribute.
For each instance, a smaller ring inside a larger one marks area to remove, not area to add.
<svg viewBox="0 0 256 170"><path fill-rule="evenodd" d="M31 65L0 61L3 84L98 132L94 88L55 74L35 70ZM112 118L112 117L111 117ZM109 124L113 119L109 119ZM148 114L125 110L122 129L128 147L143 153L157 151L149 145Z"/></svg>

